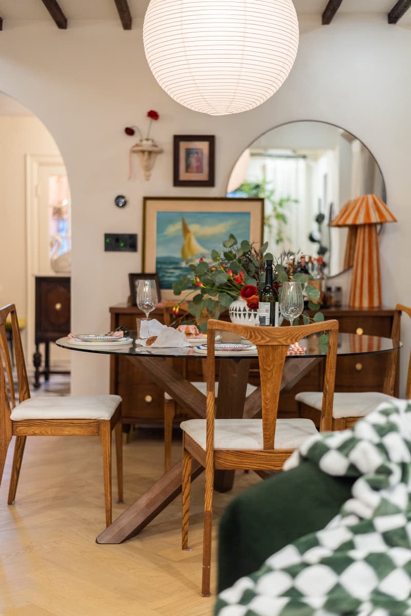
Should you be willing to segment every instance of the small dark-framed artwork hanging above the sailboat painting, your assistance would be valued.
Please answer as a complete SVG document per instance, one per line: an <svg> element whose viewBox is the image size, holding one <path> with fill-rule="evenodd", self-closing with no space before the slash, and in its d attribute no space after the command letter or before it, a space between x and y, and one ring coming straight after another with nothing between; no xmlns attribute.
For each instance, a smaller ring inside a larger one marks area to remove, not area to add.
<svg viewBox="0 0 411 616"><path fill-rule="evenodd" d="M213 135L174 135L174 186L214 185Z"/></svg>

